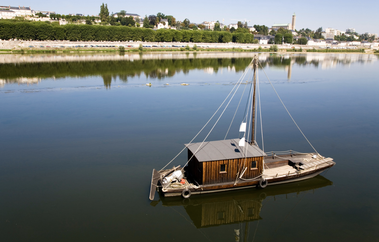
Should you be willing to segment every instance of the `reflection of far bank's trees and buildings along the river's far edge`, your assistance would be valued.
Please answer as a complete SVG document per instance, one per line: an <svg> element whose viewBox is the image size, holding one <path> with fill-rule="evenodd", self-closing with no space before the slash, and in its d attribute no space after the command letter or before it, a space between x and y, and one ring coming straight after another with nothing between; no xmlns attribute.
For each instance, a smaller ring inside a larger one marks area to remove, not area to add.
<svg viewBox="0 0 379 242"><path fill-rule="evenodd" d="M354 62L372 63L377 55L284 53L51 53L0 55L0 86L6 84L33 84L44 78L102 77L104 86L111 87L112 80L124 83L128 78L145 76L157 80L174 77L175 73L188 74L191 70L204 73L243 72L251 58L259 55L263 67L282 69L291 79L292 68L314 66L336 68Z"/></svg>

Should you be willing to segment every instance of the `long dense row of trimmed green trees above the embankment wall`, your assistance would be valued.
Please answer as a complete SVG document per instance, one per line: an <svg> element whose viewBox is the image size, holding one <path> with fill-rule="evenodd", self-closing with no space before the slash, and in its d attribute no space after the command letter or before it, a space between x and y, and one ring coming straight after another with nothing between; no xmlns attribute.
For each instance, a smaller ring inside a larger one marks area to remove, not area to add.
<svg viewBox="0 0 379 242"><path fill-rule="evenodd" d="M68 41L160 41L205 43L254 43L250 33L166 30L109 25L50 25L45 22L0 21L0 39ZM256 40L255 40L256 41Z"/></svg>

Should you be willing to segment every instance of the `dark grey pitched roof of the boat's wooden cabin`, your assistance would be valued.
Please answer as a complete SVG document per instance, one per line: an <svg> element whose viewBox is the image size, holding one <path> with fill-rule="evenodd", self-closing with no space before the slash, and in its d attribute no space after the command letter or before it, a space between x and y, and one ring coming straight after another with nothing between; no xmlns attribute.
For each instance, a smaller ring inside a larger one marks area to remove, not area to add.
<svg viewBox="0 0 379 242"><path fill-rule="evenodd" d="M196 152L195 157L199 162L221 161L227 159L240 159L243 156L243 147L238 146L240 139L227 139L224 141L204 142L199 150L201 142L185 144L192 153ZM247 158L266 156L266 154L255 145L249 145L245 141L245 154Z"/></svg>

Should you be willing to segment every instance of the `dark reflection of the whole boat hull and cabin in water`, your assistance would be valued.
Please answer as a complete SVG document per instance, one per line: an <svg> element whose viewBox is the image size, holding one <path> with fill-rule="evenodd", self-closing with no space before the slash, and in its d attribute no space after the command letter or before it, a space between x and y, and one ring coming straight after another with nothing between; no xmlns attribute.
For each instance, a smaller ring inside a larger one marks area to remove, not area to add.
<svg viewBox="0 0 379 242"><path fill-rule="evenodd" d="M332 185L332 181L321 175L291 183L268 186L265 189L241 189L232 192L201 194L191 198L164 197L150 205L183 206L196 228L207 228L235 223L252 222L260 217L262 201L266 198L287 198L300 193L313 193L316 189ZM278 197L279 196L279 197ZM238 236L239 231L235 231Z"/></svg>

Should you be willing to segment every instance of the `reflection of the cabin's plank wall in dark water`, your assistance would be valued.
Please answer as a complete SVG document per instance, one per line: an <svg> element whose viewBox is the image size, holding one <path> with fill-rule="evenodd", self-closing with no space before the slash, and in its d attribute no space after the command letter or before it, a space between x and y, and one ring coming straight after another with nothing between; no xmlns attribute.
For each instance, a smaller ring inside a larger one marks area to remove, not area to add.
<svg viewBox="0 0 379 242"><path fill-rule="evenodd" d="M237 204L236 204L237 203ZM258 220L261 200L222 201L202 204L201 226ZM241 211L242 210L242 211Z"/></svg>

